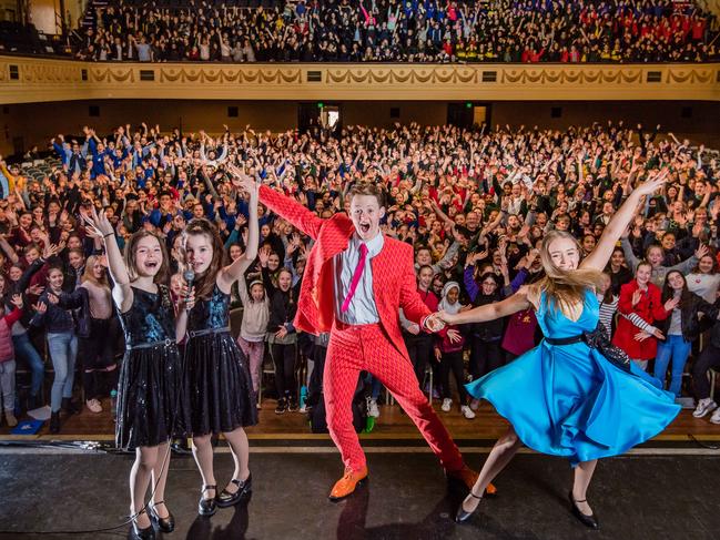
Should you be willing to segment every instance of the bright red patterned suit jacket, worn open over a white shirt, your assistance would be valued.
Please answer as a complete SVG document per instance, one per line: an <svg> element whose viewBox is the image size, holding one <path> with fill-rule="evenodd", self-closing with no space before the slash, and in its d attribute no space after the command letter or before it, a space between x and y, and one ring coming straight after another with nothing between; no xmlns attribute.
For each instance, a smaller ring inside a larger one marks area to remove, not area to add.
<svg viewBox="0 0 720 540"><path fill-rule="evenodd" d="M347 248L355 233L353 222L345 214L322 220L266 185L260 187L260 202L315 241L305 265L294 325L315 335L329 332L335 320L333 257ZM372 259L373 293L381 326L405 357L399 308L420 327L432 314L417 294L413 255L410 245L385 236L383 249Z"/></svg>

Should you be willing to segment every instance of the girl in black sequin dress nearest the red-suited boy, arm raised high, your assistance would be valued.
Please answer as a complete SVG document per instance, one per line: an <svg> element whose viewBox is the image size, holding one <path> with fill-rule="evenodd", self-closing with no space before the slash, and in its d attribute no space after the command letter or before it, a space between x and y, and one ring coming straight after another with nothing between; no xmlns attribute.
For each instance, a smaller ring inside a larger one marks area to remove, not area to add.
<svg viewBox="0 0 720 540"><path fill-rule="evenodd" d="M212 516L250 493L249 447L244 426L257 421L247 358L230 334L230 292L257 256L257 185L233 166L233 183L250 192L247 251L223 267L224 247L217 228L193 220L185 230L186 265L194 273L197 302L189 314L185 344L185 391L191 409L193 455L203 479L197 511ZM216 496L211 436L227 440L235 471Z"/></svg>

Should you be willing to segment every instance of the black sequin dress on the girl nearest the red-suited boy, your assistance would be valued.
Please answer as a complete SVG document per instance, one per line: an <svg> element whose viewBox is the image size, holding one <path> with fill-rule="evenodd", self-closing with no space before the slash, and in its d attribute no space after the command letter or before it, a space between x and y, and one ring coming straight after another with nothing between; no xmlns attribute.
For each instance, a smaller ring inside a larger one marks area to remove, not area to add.
<svg viewBox="0 0 720 540"><path fill-rule="evenodd" d="M187 319L185 391L195 436L257 424L247 358L230 334L230 300L215 285Z"/></svg>

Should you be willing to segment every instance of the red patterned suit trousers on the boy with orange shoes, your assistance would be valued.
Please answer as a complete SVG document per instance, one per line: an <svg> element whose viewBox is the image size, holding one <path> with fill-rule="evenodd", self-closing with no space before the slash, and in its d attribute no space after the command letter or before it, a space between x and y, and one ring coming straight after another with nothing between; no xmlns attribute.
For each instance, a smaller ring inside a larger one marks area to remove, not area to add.
<svg viewBox="0 0 720 540"><path fill-rule="evenodd" d="M351 326L335 322L323 386L327 427L346 468L358 471L366 465L352 411L361 371L369 371L391 391L445 469L464 467L457 446L420 390L413 365L393 346L379 324Z"/></svg>

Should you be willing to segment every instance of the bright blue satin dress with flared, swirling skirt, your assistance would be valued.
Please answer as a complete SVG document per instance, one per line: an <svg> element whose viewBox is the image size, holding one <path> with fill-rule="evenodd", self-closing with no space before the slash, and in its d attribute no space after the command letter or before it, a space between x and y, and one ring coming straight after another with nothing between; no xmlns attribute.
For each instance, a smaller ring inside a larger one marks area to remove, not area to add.
<svg viewBox="0 0 720 540"><path fill-rule="evenodd" d="M540 297L537 312L550 338L577 336L597 327L599 306L587 291L575 322ZM467 385L490 401L529 448L581 461L623 454L661 432L678 415L675 396L633 363L627 373L585 343L542 340L510 364Z"/></svg>

